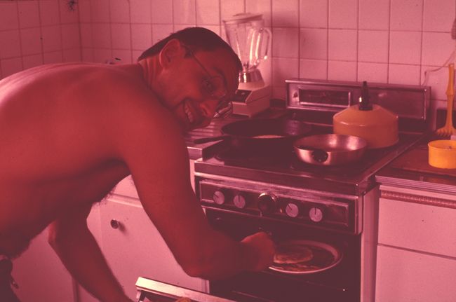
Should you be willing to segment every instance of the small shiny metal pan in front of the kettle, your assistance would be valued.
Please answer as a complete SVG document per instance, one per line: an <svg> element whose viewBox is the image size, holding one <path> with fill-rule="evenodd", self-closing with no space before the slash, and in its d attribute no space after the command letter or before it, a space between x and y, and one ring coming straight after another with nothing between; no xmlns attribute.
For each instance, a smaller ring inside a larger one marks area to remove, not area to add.
<svg viewBox="0 0 456 302"><path fill-rule="evenodd" d="M311 135L293 143L300 160L313 165L343 165L363 156L366 139L352 135Z"/></svg>

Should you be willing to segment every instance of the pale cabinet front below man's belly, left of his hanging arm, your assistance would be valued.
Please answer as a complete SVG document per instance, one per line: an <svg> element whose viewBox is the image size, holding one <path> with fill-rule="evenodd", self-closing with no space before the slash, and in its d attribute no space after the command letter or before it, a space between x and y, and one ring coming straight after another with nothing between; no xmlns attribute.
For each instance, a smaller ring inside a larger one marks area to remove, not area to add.
<svg viewBox="0 0 456 302"><path fill-rule="evenodd" d="M74 301L72 277L48 244L47 235L44 230L13 261L20 301Z"/></svg>

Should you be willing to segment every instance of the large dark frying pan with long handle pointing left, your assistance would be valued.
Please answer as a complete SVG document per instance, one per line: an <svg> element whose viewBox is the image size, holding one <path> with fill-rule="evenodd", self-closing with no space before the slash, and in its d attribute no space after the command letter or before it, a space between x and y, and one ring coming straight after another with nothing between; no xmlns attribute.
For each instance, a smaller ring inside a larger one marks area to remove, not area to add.
<svg viewBox="0 0 456 302"><path fill-rule="evenodd" d="M291 148L295 139L307 135L311 126L289 118L257 118L224 125L221 136L195 139L195 144L229 140L236 149Z"/></svg>

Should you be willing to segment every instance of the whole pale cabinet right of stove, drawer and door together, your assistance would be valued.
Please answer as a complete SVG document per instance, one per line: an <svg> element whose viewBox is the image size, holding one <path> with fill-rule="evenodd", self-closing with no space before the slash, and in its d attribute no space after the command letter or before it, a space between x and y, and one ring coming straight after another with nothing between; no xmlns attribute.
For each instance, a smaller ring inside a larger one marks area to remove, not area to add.
<svg viewBox="0 0 456 302"><path fill-rule="evenodd" d="M456 301L456 196L380 190L375 301Z"/></svg>

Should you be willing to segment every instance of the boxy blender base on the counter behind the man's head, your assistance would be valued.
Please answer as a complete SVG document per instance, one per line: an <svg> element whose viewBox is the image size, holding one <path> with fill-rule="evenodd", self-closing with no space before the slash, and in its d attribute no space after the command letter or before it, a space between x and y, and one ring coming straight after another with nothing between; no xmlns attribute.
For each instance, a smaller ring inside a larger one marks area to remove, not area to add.
<svg viewBox="0 0 456 302"><path fill-rule="evenodd" d="M244 83L245 84L245 83ZM271 86L244 88L239 84L239 89L233 99L233 114L252 117L269 108L271 102ZM241 89L244 88L244 89Z"/></svg>

